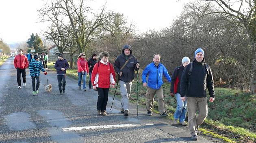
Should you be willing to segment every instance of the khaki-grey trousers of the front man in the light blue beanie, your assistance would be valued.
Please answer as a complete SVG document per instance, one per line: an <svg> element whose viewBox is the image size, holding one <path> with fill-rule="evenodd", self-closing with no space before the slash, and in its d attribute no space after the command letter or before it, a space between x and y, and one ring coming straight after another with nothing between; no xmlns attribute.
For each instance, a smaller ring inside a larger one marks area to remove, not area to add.
<svg viewBox="0 0 256 143"><path fill-rule="evenodd" d="M191 135L197 135L197 126L200 126L208 114L206 97L186 97L187 111L189 114L189 131ZM198 115L196 116L196 110Z"/></svg>

